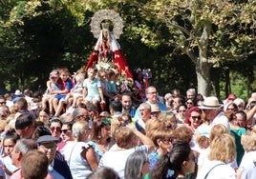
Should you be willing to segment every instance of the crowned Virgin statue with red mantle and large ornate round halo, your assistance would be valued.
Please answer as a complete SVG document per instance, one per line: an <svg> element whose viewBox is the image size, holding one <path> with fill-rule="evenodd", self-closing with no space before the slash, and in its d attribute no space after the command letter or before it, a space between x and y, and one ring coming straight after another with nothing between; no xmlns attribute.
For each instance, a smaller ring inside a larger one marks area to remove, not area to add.
<svg viewBox="0 0 256 179"><path fill-rule="evenodd" d="M112 23L113 30L109 29L109 22ZM117 42L122 29L122 19L115 10L96 11L92 17L91 31L97 41L86 65L86 70L90 67L107 69L113 66L120 76L132 80L133 74Z"/></svg>

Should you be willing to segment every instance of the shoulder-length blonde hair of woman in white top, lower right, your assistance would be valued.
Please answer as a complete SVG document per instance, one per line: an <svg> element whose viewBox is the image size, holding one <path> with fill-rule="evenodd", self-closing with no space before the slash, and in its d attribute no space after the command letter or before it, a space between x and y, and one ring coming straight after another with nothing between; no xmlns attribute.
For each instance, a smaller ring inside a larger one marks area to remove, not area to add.
<svg viewBox="0 0 256 179"><path fill-rule="evenodd" d="M222 161L225 164L236 158L236 144L232 135L224 133L216 136L210 144L209 160Z"/></svg>

